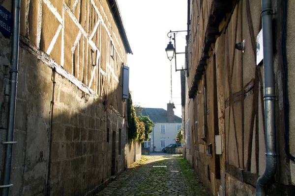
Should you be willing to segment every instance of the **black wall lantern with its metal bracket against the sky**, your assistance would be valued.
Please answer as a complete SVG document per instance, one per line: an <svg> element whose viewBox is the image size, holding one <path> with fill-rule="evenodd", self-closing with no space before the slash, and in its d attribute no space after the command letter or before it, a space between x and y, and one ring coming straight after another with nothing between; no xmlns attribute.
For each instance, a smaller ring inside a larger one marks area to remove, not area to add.
<svg viewBox="0 0 295 196"><path fill-rule="evenodd" d="M170 38L169 44L167 45L167 48L165 49L165 51L167 52L167 57L170 61L172 61L172 59L175 59L175 72L177 71L186 71L186 69L177 69L177 64L176 64L176 55L177 54L187 54L187 52L176 52L176 40L175 40L175 35L178 32L187 32L187 30L181 30L181 31L169 31L167 33L167 37ZM173 34L173 38L172 38L172 34ZM171 42L171 39L174 40L174 46Z"/></svg>

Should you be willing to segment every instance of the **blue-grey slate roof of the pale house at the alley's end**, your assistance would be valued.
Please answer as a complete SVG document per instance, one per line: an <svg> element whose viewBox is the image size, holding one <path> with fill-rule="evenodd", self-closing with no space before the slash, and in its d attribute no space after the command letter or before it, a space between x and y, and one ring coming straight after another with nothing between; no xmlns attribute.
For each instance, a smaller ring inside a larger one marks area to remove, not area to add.
<svg viewBox="0 0 295 196"><path fill-rule="evenodd" d="M175 116L175 122L167 121L167 110L162 108L142 108L141 114L148 116L154 123L181 123L181 118ZM139 116L140 114L136 114Z"/></svg>

